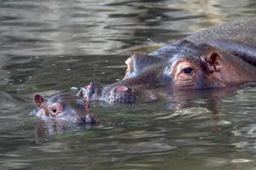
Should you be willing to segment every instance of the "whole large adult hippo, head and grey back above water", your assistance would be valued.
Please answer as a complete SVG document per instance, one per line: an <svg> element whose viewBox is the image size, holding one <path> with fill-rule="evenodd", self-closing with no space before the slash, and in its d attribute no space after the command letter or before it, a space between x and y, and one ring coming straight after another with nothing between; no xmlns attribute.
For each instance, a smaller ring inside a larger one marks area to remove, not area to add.
<svg viewBox="0 0 256 170"><path fill-rule="evenodd" d="M176 92L256 82L254 44L256 18L210 28L152 53L132 55L125 61L123 80L105 86L90 82L77 96L132 103L144 98L145 92L152 93L154 88Z"/></svg>

